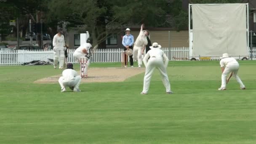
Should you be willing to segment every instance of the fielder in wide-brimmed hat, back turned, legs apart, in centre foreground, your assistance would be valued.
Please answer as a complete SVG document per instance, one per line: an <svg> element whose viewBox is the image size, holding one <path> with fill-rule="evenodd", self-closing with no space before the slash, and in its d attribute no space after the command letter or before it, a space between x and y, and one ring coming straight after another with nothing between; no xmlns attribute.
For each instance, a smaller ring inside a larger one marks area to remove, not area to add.
<svg viewBox="0 0 256 144"><path fill-rule="evenodd" d="M163 85L166 88L166 94L172 94L173 92L171 91L171 85L166 72L169 59L165 55L165 53L160 49L161 45L158 45L158 43L153 43L153 45L149 48L151 48L151 50L147 52L143 59L146 71L144 75L143 91L141 92L141 94L148 93L150 80L155 68L157 68L160 74L162 75L162 81Z"/></svg>

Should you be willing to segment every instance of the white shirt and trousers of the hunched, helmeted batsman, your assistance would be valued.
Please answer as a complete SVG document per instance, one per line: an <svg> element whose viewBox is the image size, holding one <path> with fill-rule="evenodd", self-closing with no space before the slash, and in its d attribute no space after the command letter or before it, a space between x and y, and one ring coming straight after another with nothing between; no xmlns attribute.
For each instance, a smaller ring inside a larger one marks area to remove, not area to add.
<svg viewBox="0 0 256 144"><path fill-rule="evenodd" d="M90 54L90 48L91 48L91 43L84 43L83 45L81 45L80 47L78 47L73 56L77 59L77 61L80 62L80 59L81 58L84 58L85 57L85 53L83 53L83 49L85 49L88 53L88 55ZM87 58L86 58L87 59ZM87 59L87 67L89 67L89 64L90 64L90 59Z"/></svg>

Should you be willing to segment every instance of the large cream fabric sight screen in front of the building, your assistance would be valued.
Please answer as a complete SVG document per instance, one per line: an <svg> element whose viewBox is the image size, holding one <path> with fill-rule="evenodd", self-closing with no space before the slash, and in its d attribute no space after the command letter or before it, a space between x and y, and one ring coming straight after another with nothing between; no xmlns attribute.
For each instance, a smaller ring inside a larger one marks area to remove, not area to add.
<svg viewBox="0 0 256 144"><path fill-rule="evenodd" d="M248 56L246 5L192 4L192 56Z"/></svg>

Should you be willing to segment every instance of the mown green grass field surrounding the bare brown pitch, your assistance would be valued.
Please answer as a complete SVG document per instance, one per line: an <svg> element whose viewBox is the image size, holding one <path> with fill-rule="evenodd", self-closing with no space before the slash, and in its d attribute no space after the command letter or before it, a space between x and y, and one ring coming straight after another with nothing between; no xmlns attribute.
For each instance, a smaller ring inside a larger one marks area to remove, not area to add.
<svg viewBox="0 0 256 144"><path fill-rule="evenodd" d="M148 95L144 73L61 93L59 84L33 83L61 74L52 65L2 66L0 144L256 144L256 61L239 63L247 89L231 78L218 91L219 61L170 61L172 95L157 70Z"/></svg>

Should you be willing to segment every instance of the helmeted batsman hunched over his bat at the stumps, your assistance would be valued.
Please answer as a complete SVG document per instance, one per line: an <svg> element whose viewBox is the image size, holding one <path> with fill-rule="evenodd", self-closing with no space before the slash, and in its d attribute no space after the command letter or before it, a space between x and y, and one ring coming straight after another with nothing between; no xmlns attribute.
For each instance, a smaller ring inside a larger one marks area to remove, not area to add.
<svg viewBox="0 0 256 144"><path fill-rule="evenodd" d="M86 58L87 59L87 67L89 67L90 64L90 48L92 47L93 44L93 40L91 37L88 37L88 39L86 40L86 43L84 43L83 45L81 45L80 47L78 47L73 56L80 62L81 58Z"/></svg>

